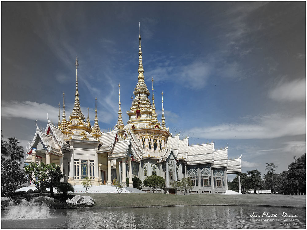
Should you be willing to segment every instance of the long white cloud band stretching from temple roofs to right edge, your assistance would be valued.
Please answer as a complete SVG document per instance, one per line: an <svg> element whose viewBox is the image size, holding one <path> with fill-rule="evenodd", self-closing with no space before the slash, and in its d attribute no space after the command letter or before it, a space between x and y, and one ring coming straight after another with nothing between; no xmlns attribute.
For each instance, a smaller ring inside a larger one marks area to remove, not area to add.
<svg viewBox="0 0 307 230"><path fill-rule="evenodd" d="M259 115L249 123L224 123L211 127L195 127L189 130L204 139L266 139L306 133L303 116L281 114Z"/></svg>

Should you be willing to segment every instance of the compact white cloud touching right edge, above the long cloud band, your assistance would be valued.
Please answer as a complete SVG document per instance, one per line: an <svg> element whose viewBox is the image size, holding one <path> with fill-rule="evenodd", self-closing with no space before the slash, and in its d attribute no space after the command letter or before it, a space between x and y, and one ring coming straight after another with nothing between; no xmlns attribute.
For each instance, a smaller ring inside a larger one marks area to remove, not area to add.
<svg viewBox="0 0 307 230"><path fill-rule="evenodd" d="M276 101L305 101L306 79L295 79L289 82L279 82L269 91L269 97Z"/></svg>

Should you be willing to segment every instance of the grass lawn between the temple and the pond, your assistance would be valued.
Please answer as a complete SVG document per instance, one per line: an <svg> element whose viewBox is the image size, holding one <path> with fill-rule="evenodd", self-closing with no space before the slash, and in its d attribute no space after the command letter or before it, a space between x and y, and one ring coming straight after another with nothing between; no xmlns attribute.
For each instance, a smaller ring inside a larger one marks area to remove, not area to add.
<svg viewBox="0 0 307 230"><path fill-rule="evenodd" d="M269 205L306 207L306 196L287 195L172 195L160 193L76 194L91 196L95 207L146 207L163 205Z"/></svg>

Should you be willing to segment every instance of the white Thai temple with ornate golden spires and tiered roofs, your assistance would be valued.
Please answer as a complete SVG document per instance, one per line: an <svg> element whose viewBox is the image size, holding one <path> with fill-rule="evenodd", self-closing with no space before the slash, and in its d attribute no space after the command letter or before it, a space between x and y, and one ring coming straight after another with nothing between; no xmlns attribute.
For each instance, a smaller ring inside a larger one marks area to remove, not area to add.
<svg viewBox="0 0 307 230"><path fill-rule="evenodd" d="M146 176L162 176L166 183L160 192L172 193L171 184L184 177L192 181L191 193L225 193L227 175L241 172L241 156L228 159L228 145L216 149L214 143L189 145L189 136L173 136L165 125L162 99L162 117L158 120L155 98L144 81L141 35L139 36L138 82L131 97L131 107L127 111L129 120L122 121L119 85L118 122L108 132L100 130L97 118L97 98L95 123L92 125L80 108L78 92L78 59L76 59L76 93L74 108L66 117L63 93L63 115L57 125L48 119L45 130L36 127L33 140L27 149L25 163L56 163L66 175L65 181L72 185L88 177L92 185L112 186L121 181L126 187L133 187L132 178L144 181ZM151 100L150 100L151 99ZM149 191L143 187L143 191Z"/></svg>

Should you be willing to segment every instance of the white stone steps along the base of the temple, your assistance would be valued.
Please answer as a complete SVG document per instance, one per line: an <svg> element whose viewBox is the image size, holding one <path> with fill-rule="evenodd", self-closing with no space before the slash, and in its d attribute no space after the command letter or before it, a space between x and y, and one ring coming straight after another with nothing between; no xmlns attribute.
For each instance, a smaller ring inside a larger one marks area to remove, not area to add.
<svg viewBox="0 0 307 230"><path fill-rule="evenodd" d="M74 187L74 190L75 190L74 193L85 193L86 192L85 188L82 185L75 185L73 187ZM32 187L27 186L27 187L17 189L16 192L18 192L18 191L28 191L29 189L35 190L36 188L33 187L33 186ZM46 188L46 190L49 191L49 188ZM53 191L56 192L55 189L53 189ZM68 193L71 193L71 192L68 192ZM99 185L99 186L92 186L91 188L89 188L87 193L100 194L100 193L118 193L118 192L117 192L116 187L114 185L112 185L112 186ZM124 188L122 193L145 193L145 192L138 190L136 188Z"/></svg>

